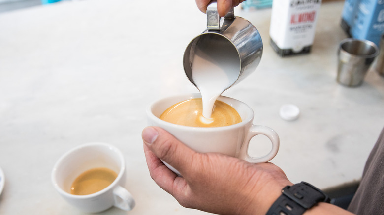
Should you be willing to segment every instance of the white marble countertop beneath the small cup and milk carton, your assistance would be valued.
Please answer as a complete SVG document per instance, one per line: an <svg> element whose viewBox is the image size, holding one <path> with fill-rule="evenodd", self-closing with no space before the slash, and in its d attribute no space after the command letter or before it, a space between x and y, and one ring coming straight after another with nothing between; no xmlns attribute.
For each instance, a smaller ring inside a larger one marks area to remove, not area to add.
<svg viewBox="0 0 384 215"><path fill-rule="evenodd" d="M358 180L384 125L383 77L371 70L358 88L335 81L342 7L324 3L312 53L286 58L269 44L271 10L236 8L260 31L264 53L254 73L224 92L280 135L271 162L292 182L319 188ZM152 181L141 140L152 101L198 92L182 56L205 20L194 0L64 1L0 14L0 214L82 214L53 188L51 170L66 151L95 141L122 150L136 200L130 212L101 214L206 214ZM286 103L300 108L296 121L279 117Z"/></svg>

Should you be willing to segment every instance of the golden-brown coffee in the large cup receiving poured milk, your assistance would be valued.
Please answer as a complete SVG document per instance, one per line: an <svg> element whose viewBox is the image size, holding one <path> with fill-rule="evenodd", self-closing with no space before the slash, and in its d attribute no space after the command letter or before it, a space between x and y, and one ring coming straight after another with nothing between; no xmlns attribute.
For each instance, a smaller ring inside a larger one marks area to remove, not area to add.
<svg viewBox="0 0 384 215"><path fill-rule="evenodd" d="M177 125L191 127L222 127L241 122L240 114L230 105L216 100L211 118L202 115L201 98L179 102L166 109L160 116L161 120Z"/></svg>

